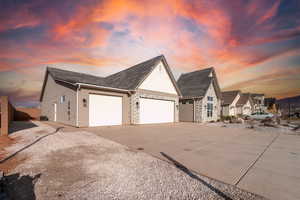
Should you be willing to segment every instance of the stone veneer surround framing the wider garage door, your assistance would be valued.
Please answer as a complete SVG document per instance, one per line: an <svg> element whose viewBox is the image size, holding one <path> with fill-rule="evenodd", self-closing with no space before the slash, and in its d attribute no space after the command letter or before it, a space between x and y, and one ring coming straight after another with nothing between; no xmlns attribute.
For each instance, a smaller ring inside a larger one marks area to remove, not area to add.
<svg viewBox="0 0 300 200"><path fill-rule="evenodd" d="M175 122L179 121L179 98L177 96L164 96L163 94L155 94L155 92L146 92L146 91L137 91L135 94L131 95L130 100L130 110L131 110L131 123L132 124L139 124L140 116L139 116L139 108L136 106L136 102L139 102L140 105L140 98L149 98L149 99L161 99L161 100L172 100L175 101ZM178 105L178 106L176 106Z"/></svg>

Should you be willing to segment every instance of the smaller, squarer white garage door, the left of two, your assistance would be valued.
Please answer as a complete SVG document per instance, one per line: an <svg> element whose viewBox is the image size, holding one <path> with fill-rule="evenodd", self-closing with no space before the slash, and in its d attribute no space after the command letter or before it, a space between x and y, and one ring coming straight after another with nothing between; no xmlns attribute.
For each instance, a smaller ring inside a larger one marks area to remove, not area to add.
<svg viewBox="0 0 300 200"><path fill-rule="evenodd" d="M122 97L89 95L89 125L122 124Z"/></svg>

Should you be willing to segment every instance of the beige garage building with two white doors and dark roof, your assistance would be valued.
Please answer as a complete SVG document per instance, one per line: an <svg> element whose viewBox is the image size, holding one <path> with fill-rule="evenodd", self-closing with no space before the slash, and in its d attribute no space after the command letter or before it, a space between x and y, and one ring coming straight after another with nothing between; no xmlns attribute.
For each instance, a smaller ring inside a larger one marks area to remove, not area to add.
<svg viewBox="0 0 300 200"><path fill-rule="evenodd" d="M180 95L163 55L107 77L47 68L41 115L76 127L178 122Z"/></svg>

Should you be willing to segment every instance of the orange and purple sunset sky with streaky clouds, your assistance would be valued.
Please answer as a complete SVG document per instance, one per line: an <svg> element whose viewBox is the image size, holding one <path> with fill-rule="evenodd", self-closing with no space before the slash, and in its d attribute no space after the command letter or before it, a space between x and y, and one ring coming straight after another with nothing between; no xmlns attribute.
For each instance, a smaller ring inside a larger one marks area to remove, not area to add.
<svg viewBox="0 0 300 200"><path fill-rule="evenodd" d="M300 94L299 0L0 0L0 95L37 105L47 66L99 76L164 54L175 78Z"/></svg>

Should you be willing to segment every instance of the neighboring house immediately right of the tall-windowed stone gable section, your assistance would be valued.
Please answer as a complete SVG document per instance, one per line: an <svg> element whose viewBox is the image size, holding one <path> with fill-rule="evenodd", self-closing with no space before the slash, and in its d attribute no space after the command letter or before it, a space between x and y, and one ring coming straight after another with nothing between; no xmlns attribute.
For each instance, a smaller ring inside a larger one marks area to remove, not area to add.
<svg viewBox="0 0 300 200"><path fill-rule="evenodd" d="M241 91L222 92L222 116L237 116L237 102L240 99Z"/></svg>

